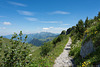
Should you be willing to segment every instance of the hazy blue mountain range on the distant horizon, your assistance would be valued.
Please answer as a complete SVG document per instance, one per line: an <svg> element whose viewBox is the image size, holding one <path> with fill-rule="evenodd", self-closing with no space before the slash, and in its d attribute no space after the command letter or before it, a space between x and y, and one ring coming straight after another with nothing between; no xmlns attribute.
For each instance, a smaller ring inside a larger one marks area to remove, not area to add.
<svg viewBox="0 0 100 67"><path fill-rule="evenodd" d="M57 37L59 34L54 34L50 32L40 32L40 33L34 33L34 34L23 34L22 40L24 41L25 36L28 35L28 38L26 42L34 44L35 46L41 46L44 42L48 42L53 40L55 37ZM3 36L4 38L11 39L11 35Z"/></svg>

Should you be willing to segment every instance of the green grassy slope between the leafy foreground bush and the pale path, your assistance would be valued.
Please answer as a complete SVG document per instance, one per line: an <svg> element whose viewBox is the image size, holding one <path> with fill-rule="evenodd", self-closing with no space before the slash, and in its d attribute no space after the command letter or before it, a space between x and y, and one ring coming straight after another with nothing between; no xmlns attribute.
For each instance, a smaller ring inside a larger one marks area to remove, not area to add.
<svg viewBox="0 0 100 67"><path fill-rule="evenodd" d="M31 64L31 66L52 67L56 57L58 57L63 52L63 49L67 41L68 41L68 36L65 36L65 39L61 42L58 42L57 46L52 51L50 51L45 57L40 56L41 47L39 47L32 54L33 63Z"/></svg>

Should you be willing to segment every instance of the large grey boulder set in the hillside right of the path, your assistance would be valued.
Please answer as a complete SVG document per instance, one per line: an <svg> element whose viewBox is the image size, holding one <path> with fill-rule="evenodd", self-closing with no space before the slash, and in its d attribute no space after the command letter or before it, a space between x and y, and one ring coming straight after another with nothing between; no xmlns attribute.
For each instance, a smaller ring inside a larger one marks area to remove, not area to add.
<svg viewBox="0 0 100 67"><path fill-rule="evenodd" d="M85 56L92 53L93 51L94 51L94 47L93 47L92 39L90 39L89 41L82 44L80 55L82 56L82 58L84 58Z"/></svg>

